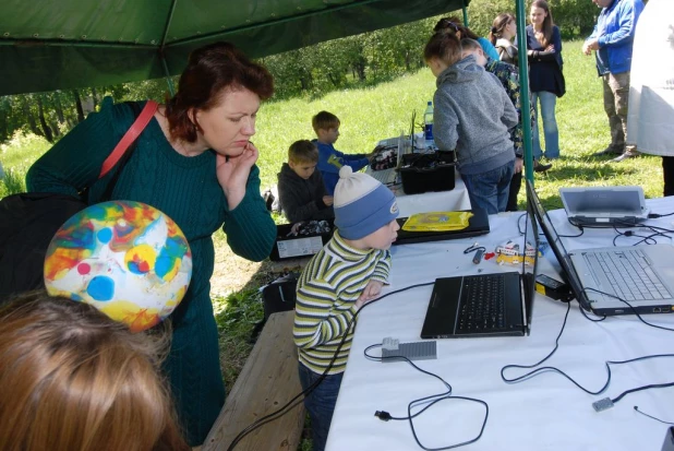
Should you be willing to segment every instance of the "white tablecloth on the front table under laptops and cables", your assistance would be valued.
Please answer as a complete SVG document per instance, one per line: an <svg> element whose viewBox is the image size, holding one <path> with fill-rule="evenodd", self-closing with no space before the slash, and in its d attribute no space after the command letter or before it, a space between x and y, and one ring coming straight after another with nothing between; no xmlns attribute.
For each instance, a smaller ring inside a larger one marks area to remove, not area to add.
<svg viewBox="0 0 674 451"><path fill-rule="evenodd" d="M654 213L674 212L674 199L648 201ZM462 250L478 241L493 251L507 239L519 237L517 221L522 212L490 216L489 235L450 241L406 245L393 248L390 286L384 293L436 277L477 272L511 270L495 259L471 262ZM562 235L576 235L564 211L551 212ZM674 216L649 223L674 229ZM580 238L565 239L567 249L612 246L612 229L587 229ZM544 239L544 237L541 237ZM631 240L631 241L630 241ZM621 238L629 246L635 238ZM671 242L660 238L660 242ZM539 260L539 272L554 275L552 251ZM557 277L558 278L558 277ZM368 360L363 349L387 336L400 343L420 341L432 286L413 288L365 307L358 327L347 371L327 441L329 451L419 450L408 422L382 422L375 411L407 416L410 401L441 393L444 385L417 371L407 363ZM633 388L674 380L674 357L613 366L613 378L602 394L590 395L567 379L546 372L520 383L505 383L501 368L508 364L531 365L554 347L567 305L535 296L530 336L448 339L437 341L437 359L417 364L442 376L458 396L480 399L489 404L483 436L467 450L653 450L661 449L666 425L635 412L633 406L665 420L674 420L674 388L653 389L626 395L613 408L597 413L592 403L615 397ZM674 314L643 317L674 328ZM578 383L597 391L606 381L605 360L623 360L674 351L674 333L650 328L635 316L611 317L590 322L571 302L571 311L556 354L545 365L567 372ZM373 349L378 355L378 349ZM514 378L523 371L510 370ZM420 441L426 448L442 448L476 437L484 410L465 401L442 401L414 419Z"/></svg>

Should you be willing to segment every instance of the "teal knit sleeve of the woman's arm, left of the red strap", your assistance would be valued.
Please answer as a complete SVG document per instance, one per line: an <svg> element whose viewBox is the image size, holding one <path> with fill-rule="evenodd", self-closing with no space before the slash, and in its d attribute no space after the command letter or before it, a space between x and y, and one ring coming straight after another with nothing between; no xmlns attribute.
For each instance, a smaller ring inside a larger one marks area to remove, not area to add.
<svg viewBox="0 0 674 451"><path fill-rule="evenodd" d="M106 97L99 112L88 117L61 138L33 164L26 187L33 192L77 195L98 179L103 162L133 123L127 105L113 105Z"/></svg>

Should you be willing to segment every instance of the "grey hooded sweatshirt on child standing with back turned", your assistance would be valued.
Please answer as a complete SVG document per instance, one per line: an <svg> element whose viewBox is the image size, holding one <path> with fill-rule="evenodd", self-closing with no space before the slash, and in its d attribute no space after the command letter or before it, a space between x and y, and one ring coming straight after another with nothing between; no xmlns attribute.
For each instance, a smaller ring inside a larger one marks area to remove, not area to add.
<svg viewBox="0 0 674 451"><path fill-rule="evenodd" d="M433 137L441 150L456 150L459 171L482 174L515 159L508 130L517 111L493 73L470 55L437 76Z"/></svg>

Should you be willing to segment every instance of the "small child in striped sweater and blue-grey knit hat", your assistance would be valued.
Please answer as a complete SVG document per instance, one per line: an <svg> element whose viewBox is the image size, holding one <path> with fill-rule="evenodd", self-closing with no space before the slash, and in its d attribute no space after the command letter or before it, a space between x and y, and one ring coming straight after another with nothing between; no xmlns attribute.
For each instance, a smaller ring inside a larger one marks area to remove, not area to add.
<svg viewBox="0 0 674 451"><path fill-rule="evenodd" d="M400 228L396 222L398 205L390 190L365 174L353 173L349 166L339 170L334 210L337 230L298 282L293 328L302 389L325 375L304 397L315 451L323 451L327 440L353 339L351 322L387 282L388 249ZM345 334L345 343L335 355Z"/></svg>

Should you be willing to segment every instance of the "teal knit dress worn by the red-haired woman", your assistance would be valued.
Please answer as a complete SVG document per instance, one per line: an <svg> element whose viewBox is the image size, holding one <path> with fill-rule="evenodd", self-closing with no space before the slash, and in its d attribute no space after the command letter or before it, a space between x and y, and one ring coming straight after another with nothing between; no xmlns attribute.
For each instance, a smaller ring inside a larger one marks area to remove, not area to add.
<svg viewBox="0 0 674 451"><path fill-rule="evenodd" d="M103 197L113 169L98 180L103 162L134 121L130 106L103 102L28 170L29 191L76 195L89 187L89 201ZM217 328L210 304L215 252L212 235L219 227L234 253L261 261L272 251L276 225L260 194L260 169L253 166L246 193L229 210L216 177L212 151L186 157L173 150L153 119L120 175L112 199L159 209L182 229L192 250L190 288L172 313L173 337L165 370L170 376L178 413L190 444L203 442L225 400Z"/></svg>

